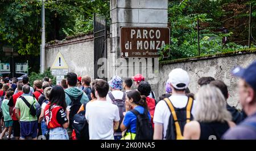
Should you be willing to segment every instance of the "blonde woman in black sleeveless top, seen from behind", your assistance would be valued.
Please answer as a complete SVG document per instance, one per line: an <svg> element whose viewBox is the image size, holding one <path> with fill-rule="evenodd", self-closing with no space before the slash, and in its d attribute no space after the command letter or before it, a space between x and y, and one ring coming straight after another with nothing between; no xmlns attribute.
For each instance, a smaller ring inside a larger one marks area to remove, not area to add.
<svg viewBox="0 0 256 151"><path fill-rule="evenodd" d="M195 121L185 125L184 139L219 140L230 127L236 126L231 121L231 114L226 110L226 100L217 87L201 87L196 100Z"/></svg>

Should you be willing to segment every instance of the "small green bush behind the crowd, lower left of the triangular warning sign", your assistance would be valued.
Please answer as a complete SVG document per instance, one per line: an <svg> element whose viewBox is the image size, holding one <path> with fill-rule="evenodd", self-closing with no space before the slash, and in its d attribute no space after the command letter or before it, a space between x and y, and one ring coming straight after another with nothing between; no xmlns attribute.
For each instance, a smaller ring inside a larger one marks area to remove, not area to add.
<svg viewBox="0 0 256 151"><path fill-rule="evenodd" d="M37 79L43 80L44 77L49 77L52 79L52 84L55 85L56 77L52 75L50 68L48 68L43 74L32 72L29 76L30 84L33 85L33 82Z"/></svg>

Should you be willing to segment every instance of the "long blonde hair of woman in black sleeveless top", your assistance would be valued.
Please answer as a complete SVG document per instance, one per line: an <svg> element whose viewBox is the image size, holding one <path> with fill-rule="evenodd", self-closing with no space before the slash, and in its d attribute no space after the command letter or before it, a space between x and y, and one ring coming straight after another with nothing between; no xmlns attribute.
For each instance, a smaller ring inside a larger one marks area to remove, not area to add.
<svg viewBox="0 0 256 151"><path fill-rule="evenodd" d="M220 89L215 86L202 86L196 94L195 120L200 122L232 120L232 116L226 110L226 100Z"/></svg>

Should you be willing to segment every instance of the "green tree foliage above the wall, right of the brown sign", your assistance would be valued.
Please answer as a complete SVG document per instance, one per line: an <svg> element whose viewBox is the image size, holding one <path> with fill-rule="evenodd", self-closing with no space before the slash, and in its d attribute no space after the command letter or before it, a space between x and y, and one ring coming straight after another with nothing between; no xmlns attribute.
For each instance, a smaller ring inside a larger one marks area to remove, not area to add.
<svg viewBox="0 0 256 151"><path fill-rule="evenodd" d="M251 1L256 9L255 1ZM170 57L167 60L198 56L197 43L197 18L200 21L200 55L215 54L246 48L248 40L250 1L232 0L183 0L169 1L168 22L171 28ZM233 10L229 10L233 8ZM253 16L256 10L253 11ZM255 18L254 18L255 19ZM227 24L226 22L229 22ZM242 24L239 28L233 24ZM256 22L252 23L252 31ZM228 29L228 33L220 31L222 27ZM240 38L237 38L239 35ZM252 36L256 36L255 33ZM224 37L228 43L223 44ZM243 43L246 41L246 43ZM256 41L254 41L254 44ZM163 52L162 52L163 53ZM160 52L160 54L162 54ZM160 60L163 58L160 57Z"/></svg>

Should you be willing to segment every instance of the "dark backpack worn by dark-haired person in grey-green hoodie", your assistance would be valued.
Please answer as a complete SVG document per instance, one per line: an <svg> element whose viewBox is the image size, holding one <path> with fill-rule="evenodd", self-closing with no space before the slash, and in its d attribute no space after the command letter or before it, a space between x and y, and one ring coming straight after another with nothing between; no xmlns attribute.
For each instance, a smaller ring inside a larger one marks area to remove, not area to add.
<svg viewBox="0 0 256 151"><path fill-rule="evenodd" d="M66 93L67 94L67 93ZM82 95L84 95L84 93L82 93L79 97L75 98L72 97L71 95L67 94L68 97L71 99L71 103L69 104L70 107L70 112L69 112L69 121L71 121L71 123L69 123L69 128L72 128L72 124L73 124L73 117L75 114L77 114L77 111L79 111L79 108L81 107L81 102L80 100L82 99Z"/></svg>

